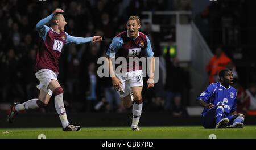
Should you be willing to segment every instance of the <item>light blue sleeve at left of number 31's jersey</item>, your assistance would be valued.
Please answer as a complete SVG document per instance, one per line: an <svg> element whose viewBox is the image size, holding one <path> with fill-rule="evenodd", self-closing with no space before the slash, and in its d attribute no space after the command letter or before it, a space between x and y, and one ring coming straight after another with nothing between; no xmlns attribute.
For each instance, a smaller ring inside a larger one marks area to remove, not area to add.
<svg viewBox="0 0 256 150"><path fill-rule="evenodd" d="M109 48L106 52L106 55L108 55L111 58L115 57L115 54L117 54L118 50L123 45L123 39L121 37L114 37L111 44L109 45Z"/></svg>

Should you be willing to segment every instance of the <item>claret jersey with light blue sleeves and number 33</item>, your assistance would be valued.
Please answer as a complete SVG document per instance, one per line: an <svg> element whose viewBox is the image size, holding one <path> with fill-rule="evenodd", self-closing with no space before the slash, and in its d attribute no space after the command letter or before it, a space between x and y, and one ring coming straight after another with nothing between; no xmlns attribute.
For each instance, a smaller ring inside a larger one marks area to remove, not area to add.
<svg viewBox="0 0 256 150"><path fill-rule="evenodd" d="M59 72L59 58L65 44L71 42L81 44L92 41L92 37L73 37L64 31L57 33L52 28L47 27L45 24L47 24L53 16L54 14L51 14L36 24L36 30L42 38L43 44L36 54L35 71L50 69L53 72Z"/></svg>

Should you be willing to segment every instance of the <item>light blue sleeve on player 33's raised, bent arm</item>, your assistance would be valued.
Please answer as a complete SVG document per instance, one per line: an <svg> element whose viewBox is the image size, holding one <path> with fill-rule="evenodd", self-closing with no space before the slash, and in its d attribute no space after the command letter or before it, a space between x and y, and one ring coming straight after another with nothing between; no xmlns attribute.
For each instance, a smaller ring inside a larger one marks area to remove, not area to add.
<svg viewBox="0 0 256 150"><path fill-rule="evenodd" d="M46 33L49 31L49 27L47 27L45 24L47 24L53 18L53 16L54 14L51 14L36 24L36 31L38 31L39 36L43 38L43 40L46 40Z"/></svg>

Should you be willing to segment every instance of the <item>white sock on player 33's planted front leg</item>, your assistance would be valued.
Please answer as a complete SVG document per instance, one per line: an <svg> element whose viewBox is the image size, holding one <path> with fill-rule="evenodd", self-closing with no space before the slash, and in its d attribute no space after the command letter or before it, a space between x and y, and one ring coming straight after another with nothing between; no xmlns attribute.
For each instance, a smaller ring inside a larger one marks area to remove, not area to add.
<svg viewBox="0 0 256 150"><path fill-rule="evenodd" d="M63 128L65 128L69 124L69 122L68 122L66 110L64 108L63 94L55 96L54 99L55 99L54 101L55 109L59 114L60 121L62 123Z"/></svg>

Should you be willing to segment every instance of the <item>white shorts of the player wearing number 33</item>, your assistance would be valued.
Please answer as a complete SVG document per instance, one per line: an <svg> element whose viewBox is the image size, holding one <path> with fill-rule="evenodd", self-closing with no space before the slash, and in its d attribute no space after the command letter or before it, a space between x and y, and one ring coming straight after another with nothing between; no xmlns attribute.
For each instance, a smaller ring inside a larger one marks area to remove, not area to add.
<svg viewBox="0 0 256 150"><path fill-rule="evenodd" d="M36 87L39 90L43 89L44 92L52 96L52 91L48 89L48 85L51 82L51 80L57 80L58 74L49 69L40 69L38 70L38 72L36 72L35 75L36 78L38 78L38 80L40 81L40 84Z"/></svg>

